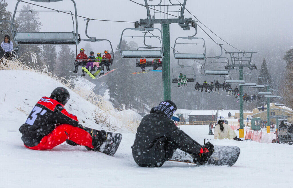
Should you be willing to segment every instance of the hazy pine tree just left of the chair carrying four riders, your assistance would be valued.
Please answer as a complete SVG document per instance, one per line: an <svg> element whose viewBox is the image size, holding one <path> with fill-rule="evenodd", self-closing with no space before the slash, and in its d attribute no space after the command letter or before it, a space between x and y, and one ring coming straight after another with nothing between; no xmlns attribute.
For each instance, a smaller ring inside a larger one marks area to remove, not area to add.
<svg viewBox="0 0 293 188"><path fill-rule="evenodd" d="M75 54L69 45L61 45L58 52L58 60L54 66L54 73L57 76L68 76L69 70L74 69Z"/></svg>

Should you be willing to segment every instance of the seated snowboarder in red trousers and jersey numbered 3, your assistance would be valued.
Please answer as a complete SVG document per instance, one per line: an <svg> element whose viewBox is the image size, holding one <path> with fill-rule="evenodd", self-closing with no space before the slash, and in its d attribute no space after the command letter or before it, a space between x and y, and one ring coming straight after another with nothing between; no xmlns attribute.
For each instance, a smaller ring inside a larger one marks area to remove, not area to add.
<svg viewBox="0 0 293 188"><path fill-rule="evenodd" d="M67 141L70 145L86 146L97 151L106 140L106 131L83 127L75 115L69 114L64 105L69 100L69 92L57 87L50 98L42 97L30 112L19 131L25 147L33 150L52 149Z"/></svg>

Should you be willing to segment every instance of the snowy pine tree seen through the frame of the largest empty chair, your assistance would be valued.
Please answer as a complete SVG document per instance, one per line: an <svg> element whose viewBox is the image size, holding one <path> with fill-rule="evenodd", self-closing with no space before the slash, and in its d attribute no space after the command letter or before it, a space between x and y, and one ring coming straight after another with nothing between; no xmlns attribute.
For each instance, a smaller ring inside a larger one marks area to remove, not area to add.
<svg viewBox="0 0 293 188"><path fill-rule="evenodd" d="M39 22L39 13L30 12L28 10L34 10L30 5L23 5L22 11L16 18L17 30L21 32L39 32L41 23ZM28 12L26 12L28 11ZM23 61L31 61L30 56L22 56L27 52L35 52L37 54L37 60L40 61L42 49L38 45L21 45L18 51L18 57L21 57Z"/></svg>

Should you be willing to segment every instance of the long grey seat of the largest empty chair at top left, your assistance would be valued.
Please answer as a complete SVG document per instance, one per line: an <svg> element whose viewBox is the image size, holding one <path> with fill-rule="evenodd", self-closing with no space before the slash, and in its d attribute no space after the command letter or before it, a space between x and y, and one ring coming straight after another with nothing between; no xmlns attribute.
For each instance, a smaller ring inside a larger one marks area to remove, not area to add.
<svg viewBox="0 0 293 188"><path fill-rule="evenodd" d="M14 40L18 44L76 45L73 32L16 32Z"/></svg>

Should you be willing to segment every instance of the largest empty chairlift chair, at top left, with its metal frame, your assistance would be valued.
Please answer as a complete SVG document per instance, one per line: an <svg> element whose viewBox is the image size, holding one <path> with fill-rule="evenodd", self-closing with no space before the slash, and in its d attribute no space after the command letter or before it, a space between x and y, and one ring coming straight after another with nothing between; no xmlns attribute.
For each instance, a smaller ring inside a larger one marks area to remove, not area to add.
<svg viewBox="0 0 293 188"><path fill-rule="evenodd" d="M14 19L17 11L18 4L23 0L18 0L16 3L12 21L11 21L11 33L13 36L13 40L16 44L26 44L26 45L44 45L44 44L52 44L52 45L77 45L80 42L80 36L78 34L78 23L77 23L77 11L76 4L74 0L70 0L74 4L74 16L75 23L73 19L73 14L71 11L62 11L62 12L70 12L71 18L73 22L73 31L71 32L21 32L16 30L14 27ZM63 0L30 0L36 2L57 2ZM32 12L28 10L27 12ZM59 12L59 11L36 11L36 12Z"/></svg>

